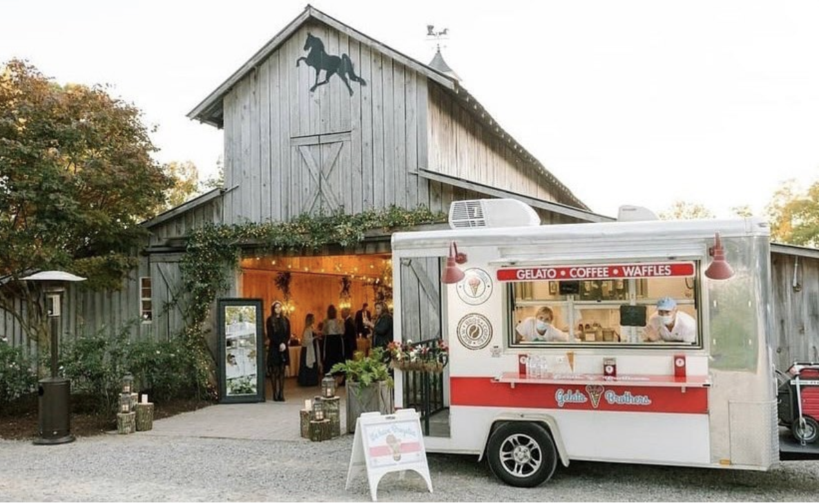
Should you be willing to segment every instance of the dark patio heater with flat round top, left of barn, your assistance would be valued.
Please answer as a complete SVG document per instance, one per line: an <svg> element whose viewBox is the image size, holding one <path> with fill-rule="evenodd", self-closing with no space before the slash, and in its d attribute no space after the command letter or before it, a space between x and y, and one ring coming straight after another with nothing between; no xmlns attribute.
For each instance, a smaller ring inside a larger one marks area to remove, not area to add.
<svg viewBox="0 0 819 503"><path fill-rule="evenodd" d="M51 329L51 377L40 379L37 388L39 437L34 439L34 443L52 445L74 442L70 415L71 382L57 376L58 339L62 295L66 292L66 284L84 281L85 278L59 270L46 270L20 279L36 281L42 285Z"/></svg>

